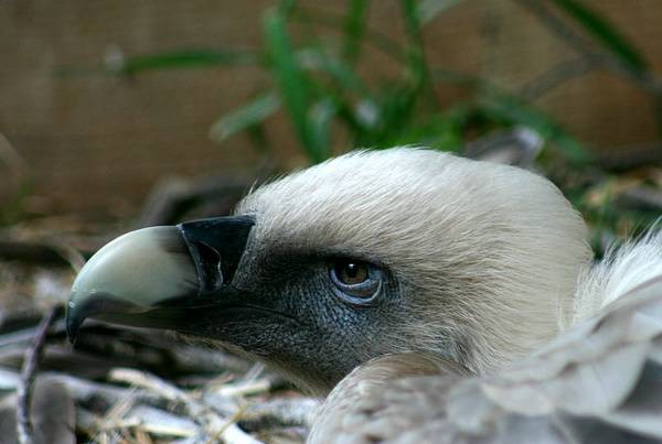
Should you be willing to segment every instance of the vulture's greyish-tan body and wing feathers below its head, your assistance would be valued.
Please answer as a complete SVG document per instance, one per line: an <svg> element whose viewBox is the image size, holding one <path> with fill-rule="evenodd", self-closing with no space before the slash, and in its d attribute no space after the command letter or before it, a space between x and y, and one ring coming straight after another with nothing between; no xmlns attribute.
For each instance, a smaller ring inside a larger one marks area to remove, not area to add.
<svg viewBox="0 0 662 444"><path fill-rule="evenodd" d="M321 408L310 443L662 441L662 278L530 358L470 377L419 354L359 367Z"/></svg>

